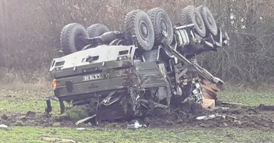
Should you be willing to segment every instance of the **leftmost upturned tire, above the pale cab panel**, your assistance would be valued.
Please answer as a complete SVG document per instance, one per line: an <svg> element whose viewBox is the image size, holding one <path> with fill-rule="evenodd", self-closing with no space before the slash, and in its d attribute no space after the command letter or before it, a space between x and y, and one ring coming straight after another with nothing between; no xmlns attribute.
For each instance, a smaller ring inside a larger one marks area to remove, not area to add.
<svg viewBox="0 0 274 143"><path fill-rule="evenodd" d="M79 37L88 37L86 28L79 23L69 23L61 31L61 49L65 55L81 51L84 43L78 40Z"/></svg>

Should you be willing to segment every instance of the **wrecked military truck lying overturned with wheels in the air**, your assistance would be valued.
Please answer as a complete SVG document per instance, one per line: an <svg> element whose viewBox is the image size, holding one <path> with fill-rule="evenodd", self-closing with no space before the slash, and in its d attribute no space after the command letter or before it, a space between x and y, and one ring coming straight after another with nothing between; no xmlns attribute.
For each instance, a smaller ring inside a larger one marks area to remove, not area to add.
<svg viewBox="0 0 274 143"><path fill-rule="evenodd" d="M187 6L176 26L161 8L129 12L123 32L70 23L60 40L62 55L50 73L61 113L71 102L88 105L96 120L142 116L184 100L215 99L223 85L195 59L228 44L206 6Z"/></svg>

